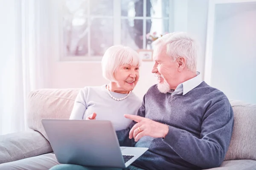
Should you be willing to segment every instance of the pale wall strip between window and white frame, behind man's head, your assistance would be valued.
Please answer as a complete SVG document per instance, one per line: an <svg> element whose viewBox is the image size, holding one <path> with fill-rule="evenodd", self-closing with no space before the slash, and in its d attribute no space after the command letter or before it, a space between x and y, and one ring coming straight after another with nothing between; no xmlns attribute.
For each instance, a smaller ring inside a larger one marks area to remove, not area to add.
<svg viewBox="0 0 256 170"><path fill-rule="evenodd" d="M173 0L174 30L185 31L194 36L201 46L198 71L204 77L205 43L209 0Z"/></svg>

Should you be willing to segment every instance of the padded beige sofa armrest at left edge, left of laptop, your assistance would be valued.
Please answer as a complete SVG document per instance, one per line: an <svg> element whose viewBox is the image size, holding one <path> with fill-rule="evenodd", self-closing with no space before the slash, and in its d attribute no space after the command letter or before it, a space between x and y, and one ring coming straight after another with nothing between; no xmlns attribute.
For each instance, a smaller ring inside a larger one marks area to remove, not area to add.
<svg viewBox="0 0 256 170"><path fill-rule="evenodd" d="M0 136L0 164L52 152L45 137L28 130Z"/></svg>

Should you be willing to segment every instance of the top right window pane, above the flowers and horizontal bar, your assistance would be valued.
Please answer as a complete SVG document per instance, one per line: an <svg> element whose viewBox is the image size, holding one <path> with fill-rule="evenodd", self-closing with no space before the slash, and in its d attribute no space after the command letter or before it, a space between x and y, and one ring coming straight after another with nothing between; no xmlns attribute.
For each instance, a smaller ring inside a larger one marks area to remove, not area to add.
<svg viewBox="0 0 256 170"><path fill-rule="evenodd" d="M169 0L147 0L147 17L169 17Z"/></svg>

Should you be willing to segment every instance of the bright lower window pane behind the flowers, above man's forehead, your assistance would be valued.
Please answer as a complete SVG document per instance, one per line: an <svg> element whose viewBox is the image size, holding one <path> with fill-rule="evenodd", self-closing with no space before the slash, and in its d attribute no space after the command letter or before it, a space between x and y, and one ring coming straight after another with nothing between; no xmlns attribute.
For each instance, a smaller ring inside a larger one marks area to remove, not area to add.
<svg viewBox="0 0 256 170"><path fill-rule="evenodd" d="M147 37L147 49L151 49L151 43L157 38L169 32L169 20L151 19L147 20L147 25L151 24Z"/></svg>

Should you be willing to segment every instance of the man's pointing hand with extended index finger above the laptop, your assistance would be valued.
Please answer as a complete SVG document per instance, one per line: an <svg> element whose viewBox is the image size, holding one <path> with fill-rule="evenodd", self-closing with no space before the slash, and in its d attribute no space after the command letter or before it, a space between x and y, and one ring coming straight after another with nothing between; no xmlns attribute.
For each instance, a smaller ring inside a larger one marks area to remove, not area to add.
<svg viewBox="0 0 256 170"><path fill-rule="evenodd" d="M138 122L131 128L129 133L129 138L134 138L135 142L137 142L143 136L162 138L165 137L169 131L168 125L155 122L151 119L129 114L125 114L124 116L125 118Z"/></svg>

